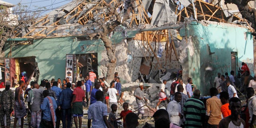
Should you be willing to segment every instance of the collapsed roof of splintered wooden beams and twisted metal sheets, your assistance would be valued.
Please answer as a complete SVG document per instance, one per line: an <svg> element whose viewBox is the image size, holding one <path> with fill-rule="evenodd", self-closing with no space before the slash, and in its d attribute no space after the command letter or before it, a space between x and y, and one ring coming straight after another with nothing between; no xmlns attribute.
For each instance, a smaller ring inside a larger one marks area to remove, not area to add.
<svg viewBox="0 0 256 128"><path fill-rule="evenodd" d="M119 11L125 8L125 2L129 0L107 0L108 4L115 6ZM24 30L16 34L23 38L40 35L42 38L52 34L60 25L64 24L93 24L99 20L111 22L115 17L108 13L108 8L104 4L104 0L91 0L91 2L77 1L70 2L60 8L53 10L36 20L33 24L26 24ZM136 9L130 14L127 22L130 26L138 24L152 24L153 26L163 26L165 23L176 24L183 22L184 18L192 20L210 20L217 22L232 22L240 18L227 12L219 6L214 6L202 0L135 0ZM122 14L122 13L120 13ZM193 16L193 17L192 17ZM36 28L41 28L34 32Z"/></svg>

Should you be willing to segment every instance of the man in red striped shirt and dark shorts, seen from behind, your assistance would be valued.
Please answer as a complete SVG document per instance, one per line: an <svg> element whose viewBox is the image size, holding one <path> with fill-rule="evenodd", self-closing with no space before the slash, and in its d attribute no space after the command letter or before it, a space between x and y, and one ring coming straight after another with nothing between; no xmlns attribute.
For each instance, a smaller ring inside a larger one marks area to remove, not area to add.
<svg viewBox="0 0 256 128"><path fill-rule="evenodd" d="M84 93L84 90L82 90L81 85L82 85L82 82L78 81L76 85L77 87L73 91L73 99L71 102L72 114L74 116L74 122L75 122L76 128L78 128L77 117L79 119L79 128L81 128L82 126L81 117L84 114L82 101L84 101L85 99L85 93Z"/></svg>

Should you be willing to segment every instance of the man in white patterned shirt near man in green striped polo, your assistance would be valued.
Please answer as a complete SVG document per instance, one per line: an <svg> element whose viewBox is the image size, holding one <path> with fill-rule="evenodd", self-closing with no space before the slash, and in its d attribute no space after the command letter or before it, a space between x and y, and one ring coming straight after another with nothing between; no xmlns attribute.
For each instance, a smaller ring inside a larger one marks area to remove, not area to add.
<svg viewBox="0 0 256 128"><path fill-rule="evenodd" d="M169 104L167 106L167 112L169 114L170 122L172 122L173 124L176 124L178 126L181 125L181 122L182 122L181 119L184 117L181 114L181 106L179 104L180 100L181 100L180 92L175 92L174 100L169 102Z"/></svg>

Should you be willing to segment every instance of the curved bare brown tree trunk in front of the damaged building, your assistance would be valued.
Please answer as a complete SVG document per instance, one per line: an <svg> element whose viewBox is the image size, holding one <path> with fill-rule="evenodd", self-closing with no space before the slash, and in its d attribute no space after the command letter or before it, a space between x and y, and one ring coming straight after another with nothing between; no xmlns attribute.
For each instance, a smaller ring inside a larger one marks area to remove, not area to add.
<svg viewBox="0 0 256 128"><path fill-rule="evenodd" d="M112 41L108 38L106 34L100 34L100 39L104 42L104 46L107 50L108 55L108 72L106 76L106 81L111 82L114 80L114 72L116 68L116 56L115 56L115 50L112 47Z"/></svg>

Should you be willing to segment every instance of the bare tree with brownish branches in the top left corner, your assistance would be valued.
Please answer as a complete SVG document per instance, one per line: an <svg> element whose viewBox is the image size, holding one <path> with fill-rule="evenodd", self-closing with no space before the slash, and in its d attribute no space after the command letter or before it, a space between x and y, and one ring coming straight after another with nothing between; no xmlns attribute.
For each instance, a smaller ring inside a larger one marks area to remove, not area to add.
<svg viewBox="0 0 256 128"><path fill-rule="evenodd" d="M13 10L8 6L0 6L0 51L8 38L15 38L21 34L24 24L33 24L42 14L45 7L34 6L34 11L30 11L28 6L18 4ZM15 45L12 43L11 45Z"/></svg>

